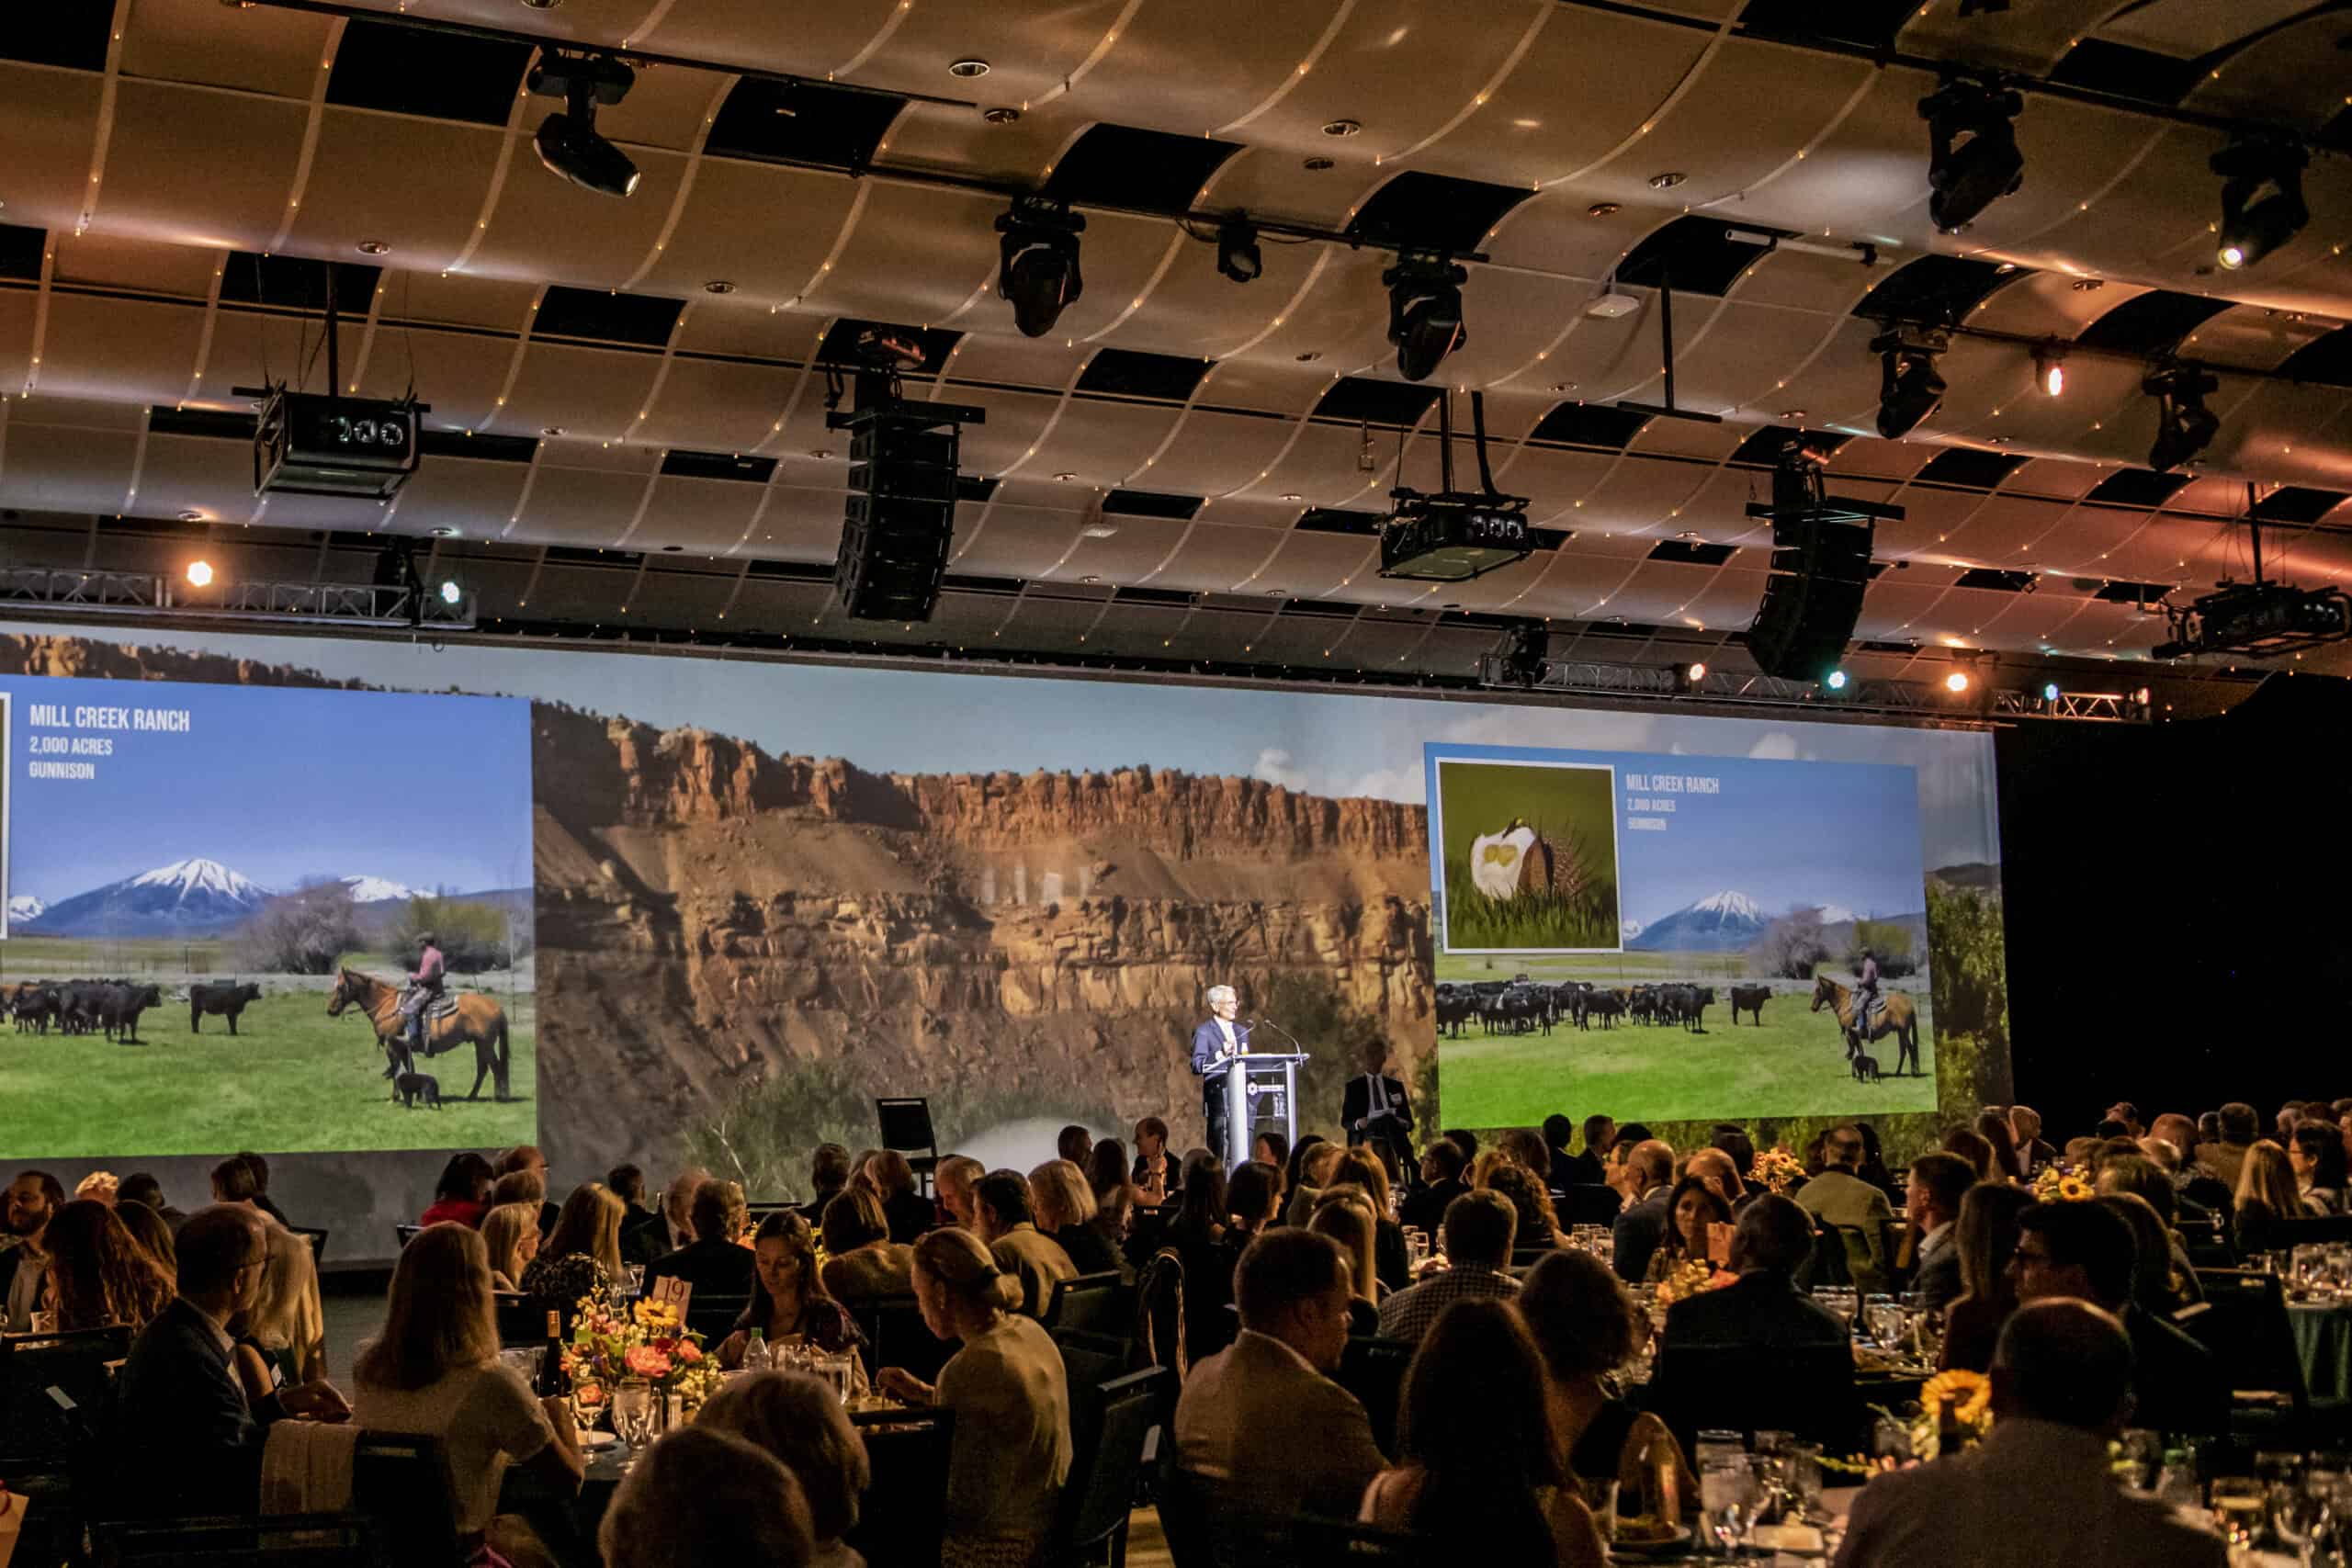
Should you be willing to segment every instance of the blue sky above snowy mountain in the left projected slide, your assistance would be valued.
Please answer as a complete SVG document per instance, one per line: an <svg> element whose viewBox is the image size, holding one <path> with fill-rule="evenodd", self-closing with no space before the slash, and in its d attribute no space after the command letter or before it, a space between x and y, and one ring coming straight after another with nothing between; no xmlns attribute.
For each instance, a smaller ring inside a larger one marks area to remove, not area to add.
<svg viewBox="0 0 2352 1568"><path fill-rule="evenodd" d="M273 891L532 882L529 703L54 677L0 689L12 896L59 903L188 858ZM33 705L61 705L68 729L33 724ZM71 726L75 708L179 710L188 729ZM42 736L103 738L111 755L40 752ZM33 778L33 762L87 762L92 776Z"/></svg>

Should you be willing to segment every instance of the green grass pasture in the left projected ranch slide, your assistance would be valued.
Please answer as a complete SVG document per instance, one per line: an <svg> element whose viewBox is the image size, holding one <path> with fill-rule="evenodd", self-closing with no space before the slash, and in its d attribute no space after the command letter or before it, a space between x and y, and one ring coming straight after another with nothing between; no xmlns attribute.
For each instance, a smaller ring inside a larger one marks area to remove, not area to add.
<svg viewBox="0 0 2352 1568"><path fill-rule="evenodd" d="M473 1046L463 1046L416 1063L440 1079L440 1112L390 1100L374 1032L350 1013L327 1018L322 990L266 994L245 1009L235 1039L226 1018L191 1034L188 1004L169 987L165 1004L141 1016L136 1046L56 1030L16 1034L0 1023L0 1161L532 1143L536 1006L527 994L499 1001L515 1098L499 1105L496 1079L485 1079L482 1098L463 1100L475 1072Z"/></svg>

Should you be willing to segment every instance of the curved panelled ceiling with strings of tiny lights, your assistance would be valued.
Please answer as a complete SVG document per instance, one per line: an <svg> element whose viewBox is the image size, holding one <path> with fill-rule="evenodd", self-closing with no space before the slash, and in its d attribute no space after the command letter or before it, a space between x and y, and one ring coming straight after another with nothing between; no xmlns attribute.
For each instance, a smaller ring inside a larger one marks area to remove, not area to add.
<svg viewBox="0 0 2352 1568"><path fill-rule="evenodd" d="M1769 489L1766 433L1802 425L1846 437L1835 491L1907 512L1879 527L1856 628L1896 663L2140 656L2166 635L2140 599L2246 574L2249 501L2277 576L2352 576L2338 5L837 0L790 26L771 0L21 9L40 14L0 21L0 505L49 527L19 531L14 562L151 559L176 534L139 522L183 520L285 548L252 571L315 571L299 531L386 529L445 534L487 614L724 611L1040 651L1265 621L1305 663L1411 665L1484 646L1491 616L1545 616L1686 656L1755 614L1769 527L1743 508ZM522 92L527 45L402 19L666 56L600 118L637 193L539 167L555 106ZM2030 78L2025 183L1957 237L1926 214L1915 103L1936 78L1863 56L1872 33L1898 61ZM950 75L957 59L990 71ZM2227 122L2319 148L2310 226L2244 273L2211 266ZM1087 212L1087 289L1025 339L995 296L993 221L1002 190L1037 186ZM1475 247L1468 343L1409 386L1385 249L1268 235L1263 277L1235 284L1178 209ZM440 430L388 508L252 494L233 388L327 386L318 261L348 263L343 388L414 388ZM1585 315L1611 275L1639 310ZM1663 400L1661 277L1677 404L1722 423L1609 407ZM1933 294L1964 301L1950 395L1877 440L1879 322L1858 308ZM908 393L985 409L950 564L976 597L943 628L844 623L823 592L849 465L811 364L844 320L931 329L943 353ZM2072 346L2063 397L2034 388L2044 341ZM2216 367L2223 428L2157 477L2140 376L2164 353ZM1399 461L1435 489L1439 383L1484 393L1496 480L1531 496L1548 548L1477 583L1383 581L1369 524ZM1334 616L1381 630L1334 656Z"/></svg>

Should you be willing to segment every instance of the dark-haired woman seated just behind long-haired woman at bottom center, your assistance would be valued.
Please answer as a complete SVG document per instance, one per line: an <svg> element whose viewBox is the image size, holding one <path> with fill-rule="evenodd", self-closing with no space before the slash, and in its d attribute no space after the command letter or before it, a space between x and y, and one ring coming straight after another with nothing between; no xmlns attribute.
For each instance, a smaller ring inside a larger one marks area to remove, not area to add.
<svg viewBox="0 0 2352 1568"><path fill-rule="evenodd" d="M1552 1253L1526 1272L1512 1307L1543 1354L1543 1392L1552 1410L1552 1441L1569 1474L1616 1481L1625 1514L1651 1483L1656 1443L1675 1453L1679 1495L1698 1483L1665 1422L1616 1399L1602 1378L1632 1361L1649 1324L1606 1262L1592 1253Z"/></svg>

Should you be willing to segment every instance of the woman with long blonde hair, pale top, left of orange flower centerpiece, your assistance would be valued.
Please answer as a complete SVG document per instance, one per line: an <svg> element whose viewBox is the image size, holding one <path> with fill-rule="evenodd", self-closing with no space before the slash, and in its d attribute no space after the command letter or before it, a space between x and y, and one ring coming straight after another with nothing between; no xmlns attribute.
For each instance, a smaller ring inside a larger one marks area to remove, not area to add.
<svg viewBox="0 0 2352 1568"><path fill-rule="evenodd" d="M468 1552L489 1537L510 1542L501 1549L515 1556L536 1542L529 1526L499 1516L506 1467L522 1465L569 1495L586 1462L569 1403L534 1399L522 1373L499 1361L489 1298L480 1232L456 1222L419 1232L393 1267L383 1335L353 1361L353 1422L440 1439Z"/></svg>

